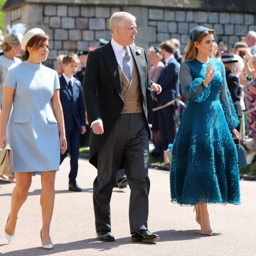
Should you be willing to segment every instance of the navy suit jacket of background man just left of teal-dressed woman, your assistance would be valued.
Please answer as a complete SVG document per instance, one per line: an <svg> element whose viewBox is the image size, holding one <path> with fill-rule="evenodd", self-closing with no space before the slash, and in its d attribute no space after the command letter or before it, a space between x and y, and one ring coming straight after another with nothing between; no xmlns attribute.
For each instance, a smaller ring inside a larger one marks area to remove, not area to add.
<svg viewBox="0 0 256 256"><path fill-rule="evenodd" d="M179 64L174 57L170 59L168 65L162 69L157 81L162 87L162 92L158 95L156 91L153 92L154 96L158 98L160 105L164 105L173 100L172 90L174 90L176 94L180 93L179 70Z"/></svg>

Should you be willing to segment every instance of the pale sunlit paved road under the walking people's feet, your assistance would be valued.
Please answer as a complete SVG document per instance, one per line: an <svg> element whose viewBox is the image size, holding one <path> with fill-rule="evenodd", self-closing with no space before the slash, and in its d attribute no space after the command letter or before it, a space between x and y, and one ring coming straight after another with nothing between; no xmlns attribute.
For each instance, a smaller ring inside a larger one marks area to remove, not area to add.
<svg viewBox="0 0 256 256"><path fill-rule="evenodd" d="M33 177L29 197L23 205L15 238L9 245L4 226L15 184L0 181L0 255L15 256L255 256L256 181L241 181L240 206L209 205L213 236L200 234L192 207L170 203L169 172L150 169L150 214L148 228L158 233L155 243L131 241L128 225L129 189L114 188L111 201L112 232L115 242L95 238L92 183L96 169L87 159L79 159L78 184L83 192L69 192L66 158L56 175L56 200L51 226L55 248L43 250L41 229L40 177Z"/></svg>

